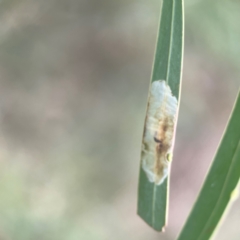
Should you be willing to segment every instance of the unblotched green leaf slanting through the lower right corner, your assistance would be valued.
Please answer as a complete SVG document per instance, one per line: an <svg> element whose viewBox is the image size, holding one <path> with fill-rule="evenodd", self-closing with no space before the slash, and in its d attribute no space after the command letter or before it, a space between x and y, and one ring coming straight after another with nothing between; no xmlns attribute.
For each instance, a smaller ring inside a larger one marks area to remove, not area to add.
<svg viewBox="0 0 240 240"><path fill-rule="evenodd" d="M178 240L207 240L229 206L240 178L240 91L195 206Z"/></svg>

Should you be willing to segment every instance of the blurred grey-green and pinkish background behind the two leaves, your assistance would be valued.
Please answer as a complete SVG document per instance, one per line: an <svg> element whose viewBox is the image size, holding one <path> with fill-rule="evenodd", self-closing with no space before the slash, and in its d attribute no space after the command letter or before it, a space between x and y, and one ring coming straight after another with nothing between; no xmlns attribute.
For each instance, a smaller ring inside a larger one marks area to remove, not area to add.
<svg viewBox="0 0 240 240"><path fill-rule="evenodd" d="M0 239L173 240L239 88L240 2L185 0L165 234L136 214L160 1L0 1ZM217 239L240 236L240 200Z"/></svg>

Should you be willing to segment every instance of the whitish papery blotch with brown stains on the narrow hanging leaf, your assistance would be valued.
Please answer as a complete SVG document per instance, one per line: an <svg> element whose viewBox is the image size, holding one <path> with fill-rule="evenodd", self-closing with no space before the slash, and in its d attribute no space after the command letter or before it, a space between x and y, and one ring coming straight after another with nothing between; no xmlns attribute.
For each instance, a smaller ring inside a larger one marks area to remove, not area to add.
<svg viewBox="0 0 240 240"><path fill-rule="evenodd" d="M142 168L150 182L163 183L174 145L177 99L166 81L151 84L142 143Z"/></svg>

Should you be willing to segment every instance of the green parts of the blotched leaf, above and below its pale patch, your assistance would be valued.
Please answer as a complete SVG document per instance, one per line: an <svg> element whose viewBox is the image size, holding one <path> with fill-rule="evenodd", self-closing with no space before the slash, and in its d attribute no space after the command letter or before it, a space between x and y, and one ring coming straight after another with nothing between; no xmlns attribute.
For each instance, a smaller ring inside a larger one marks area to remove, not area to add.
<svg viewBox="0 0 240 240"><path fill-rule="evenodd" d="M182 55L183 0L163 0L151 81L165 80L178 100ZM167 221L168 186L168 178L161 185L149 182L140 167L138 214L157 231L162 231Z"/></svg>

